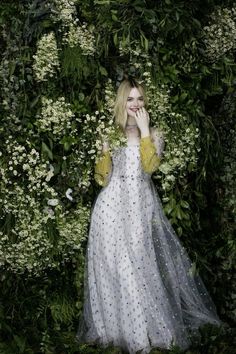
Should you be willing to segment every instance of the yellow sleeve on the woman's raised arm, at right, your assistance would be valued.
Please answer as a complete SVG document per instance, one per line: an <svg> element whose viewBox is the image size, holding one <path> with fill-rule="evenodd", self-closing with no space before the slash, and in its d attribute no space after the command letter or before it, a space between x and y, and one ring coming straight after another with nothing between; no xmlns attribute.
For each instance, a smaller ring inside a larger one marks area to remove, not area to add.
<svg viewBox="0 0 236 354"><path fill-rule="evenodd" d="M160 157L157 155L156 147L150 136L140 140L140 157L143 170L152 174L160 165Z"/></svg>

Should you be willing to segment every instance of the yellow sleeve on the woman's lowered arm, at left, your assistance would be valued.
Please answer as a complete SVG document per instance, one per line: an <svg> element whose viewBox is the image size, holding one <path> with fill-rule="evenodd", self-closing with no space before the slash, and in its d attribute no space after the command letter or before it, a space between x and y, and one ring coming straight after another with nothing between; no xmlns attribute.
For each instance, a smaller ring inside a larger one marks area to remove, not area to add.
<svg viewBox="0 0 236 354"><path fill-rule="evenodd" d="M105 187L108 184L111 168L111 154L109 151L106 151L95 164L94 178L100 186Z"/></svg>

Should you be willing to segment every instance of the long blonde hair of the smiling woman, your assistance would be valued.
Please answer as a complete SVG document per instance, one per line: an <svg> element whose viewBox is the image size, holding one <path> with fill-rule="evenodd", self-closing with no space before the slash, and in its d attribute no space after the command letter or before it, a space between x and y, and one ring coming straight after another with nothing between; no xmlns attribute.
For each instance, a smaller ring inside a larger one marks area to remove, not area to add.
<svg viewBox="0 0 236 354"><path fill-rule="evenodd" d="M130 94L130 90L136 87L140 94L143 96L144 104L147 106L147 98L145 95L144 88L141 84L137 82L137 80L129 78L125 79L121 82L114 105L114 119L117 126L124 132L127 122L127 111L126 111L126 103Z"/></svg>

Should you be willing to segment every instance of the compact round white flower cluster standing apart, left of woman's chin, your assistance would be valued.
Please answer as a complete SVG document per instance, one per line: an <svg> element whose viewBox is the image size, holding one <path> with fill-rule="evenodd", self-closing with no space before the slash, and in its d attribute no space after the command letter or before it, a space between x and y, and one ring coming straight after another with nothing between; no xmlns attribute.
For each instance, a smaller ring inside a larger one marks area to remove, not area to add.
<svg viewBox="0 0 236 354"><path fill-rule="evenodd" d="M74 113L64 97L59 97L56 101L42 97L42 109L36 125L39 131L51 132L54 138L61 138L70 129L72 118Z"/></svg>

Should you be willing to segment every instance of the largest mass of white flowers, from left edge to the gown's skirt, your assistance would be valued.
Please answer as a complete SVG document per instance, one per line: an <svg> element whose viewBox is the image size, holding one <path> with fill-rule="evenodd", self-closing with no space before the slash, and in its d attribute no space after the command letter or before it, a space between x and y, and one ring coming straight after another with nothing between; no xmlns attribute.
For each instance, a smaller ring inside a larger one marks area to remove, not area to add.
<svg viewBox="0 0 236 354"><path fill-rule="evenodd" d="M2 156L2 152L0 152ZM0 266L16 273L40 274L67 261L87 235L90 206L64 210L50 186L53 166L43 161L30 142L6 140L0 164ZM68 189L65 197L73 200ZM57 244L55 251L55 244Z"/></svg>

